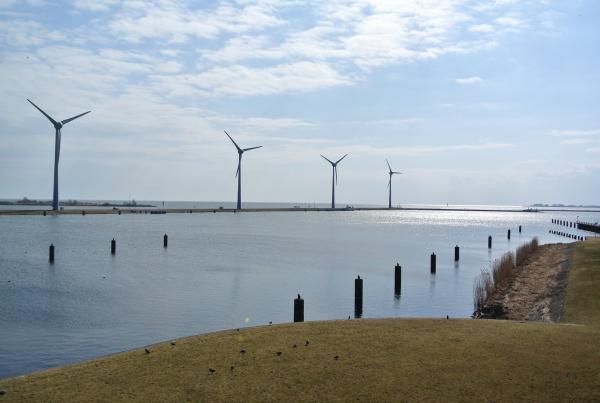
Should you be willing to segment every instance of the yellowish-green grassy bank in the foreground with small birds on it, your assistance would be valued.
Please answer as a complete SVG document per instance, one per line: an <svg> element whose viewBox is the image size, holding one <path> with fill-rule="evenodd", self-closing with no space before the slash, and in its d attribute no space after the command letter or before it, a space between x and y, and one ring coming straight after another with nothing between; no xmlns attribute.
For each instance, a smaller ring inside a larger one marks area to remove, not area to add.
<svg viewBox="0 0 600 403"><path fill-rule="evenodd" d="M0 402L598 401L600 240L574 246L572 262L565 320L583 325L377 319L241 329L0 381Z"/></svg>

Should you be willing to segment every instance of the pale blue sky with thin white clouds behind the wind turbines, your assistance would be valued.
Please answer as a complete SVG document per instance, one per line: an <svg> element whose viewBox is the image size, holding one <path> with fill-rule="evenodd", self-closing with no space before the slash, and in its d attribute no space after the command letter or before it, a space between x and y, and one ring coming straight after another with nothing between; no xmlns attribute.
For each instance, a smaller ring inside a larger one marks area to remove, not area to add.
<svg viewBox="0 0 600 403"><path fill-rule="evenodd" d="M600 204L596 0L0 0L0 198Z"/></svg>

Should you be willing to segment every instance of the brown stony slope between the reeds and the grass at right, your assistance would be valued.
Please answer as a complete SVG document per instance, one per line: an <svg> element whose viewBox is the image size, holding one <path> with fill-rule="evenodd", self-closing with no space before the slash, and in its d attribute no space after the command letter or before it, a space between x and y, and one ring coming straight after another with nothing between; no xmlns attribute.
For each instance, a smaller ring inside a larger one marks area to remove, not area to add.
<svg viewBox="0 0 600 403"><path fill-rule="evenodd" d="M542 245L501 284L486 311L511 320L560 320L569 269L568 244Z"/></svg>

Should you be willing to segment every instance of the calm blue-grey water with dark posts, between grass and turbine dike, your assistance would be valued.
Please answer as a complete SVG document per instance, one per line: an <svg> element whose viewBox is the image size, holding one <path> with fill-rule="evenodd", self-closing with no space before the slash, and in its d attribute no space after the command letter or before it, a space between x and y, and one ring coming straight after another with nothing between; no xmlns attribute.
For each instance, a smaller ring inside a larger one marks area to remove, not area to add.
<svg viewBox="0 0 600 403"><path fill-rule="evenodd" d="M364 317L468 317L473 279L492 259L533 236L569 242L548 234L559 228L550 224L553 217L598 221L598 215L0 216L0 378L165 339L290 322L297 293L305 299L306 320L347 318L354 315L358 274L365 279ZM52 265L50 243L56 245ZM461 247L459 264L454 245ZM437 254L435 276L431 252ZM396 262L403 268L400 298L393 292Z"/></svg>

